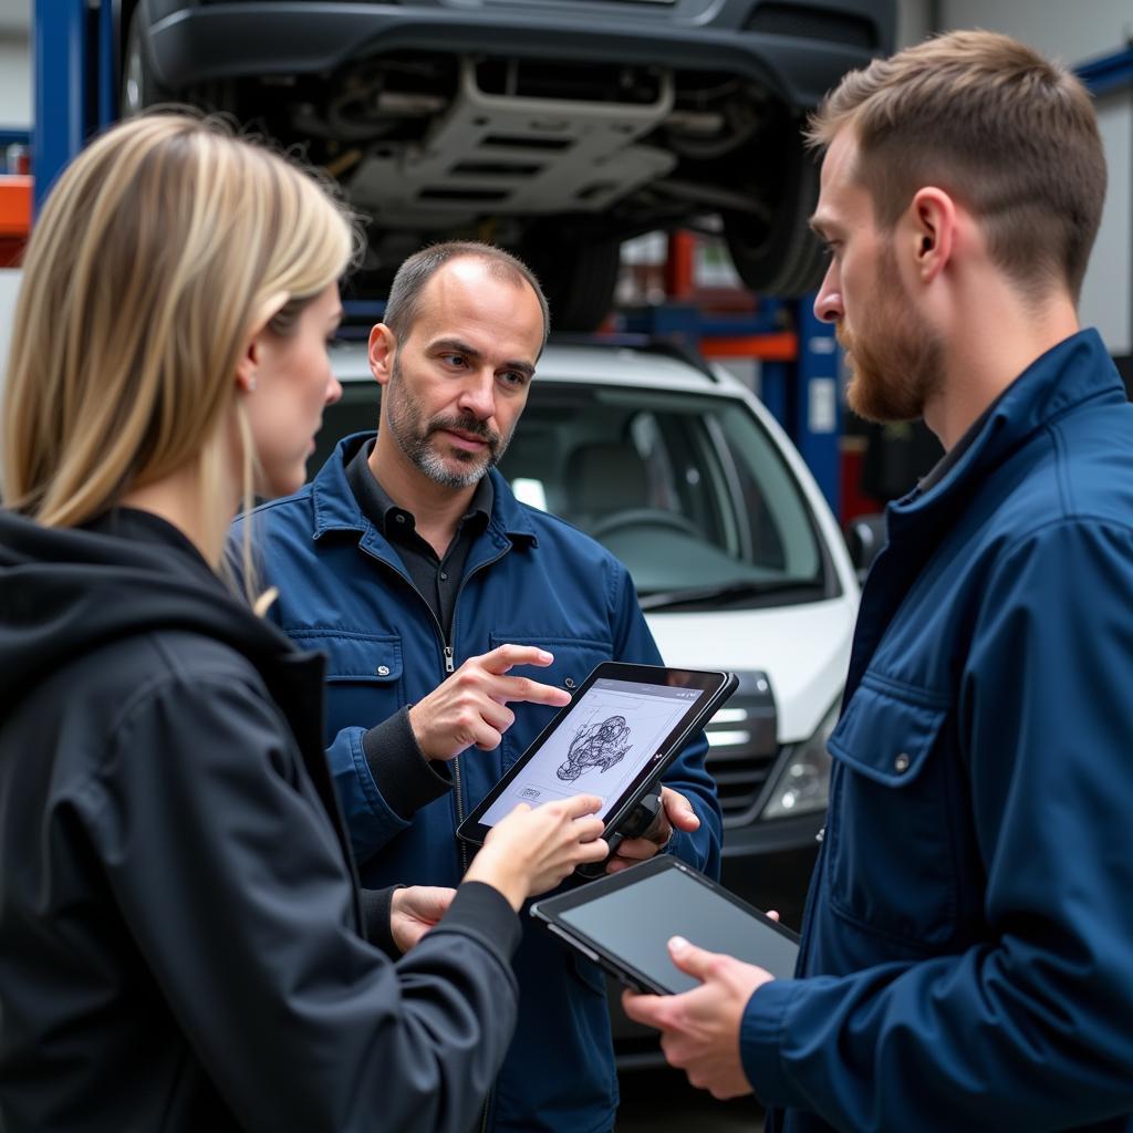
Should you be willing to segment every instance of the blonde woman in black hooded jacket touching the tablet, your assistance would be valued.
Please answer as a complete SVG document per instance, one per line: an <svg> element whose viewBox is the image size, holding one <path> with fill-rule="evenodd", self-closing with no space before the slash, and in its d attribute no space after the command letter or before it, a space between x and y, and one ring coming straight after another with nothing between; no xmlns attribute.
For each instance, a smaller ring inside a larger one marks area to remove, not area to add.
<svg viewBox="0 0 1133 1133"><path fill-rule="evenodd" d="M218 577L341 392L351 249L307 174L180 116L95 142L36 223L2 409L8 1133L463 1133L516 912L606 852L596 799L518 811L421 938L449 891L355 884L320 658Z"/></svg>

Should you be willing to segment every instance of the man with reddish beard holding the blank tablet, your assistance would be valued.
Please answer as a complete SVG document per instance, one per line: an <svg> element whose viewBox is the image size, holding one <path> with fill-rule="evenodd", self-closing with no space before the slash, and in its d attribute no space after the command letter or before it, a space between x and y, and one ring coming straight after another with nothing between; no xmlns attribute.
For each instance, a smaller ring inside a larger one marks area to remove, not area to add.
<svg viewBox="0 0 1133 1133"><path fill-rule="evenodd" d="M772 1131L1133 1130L1133 407L1077 323L1093 110L957 32L846 76L811 138L850 404L946 454L862 595L796 978L676 939L701 986L627 1010Z"/></svg>

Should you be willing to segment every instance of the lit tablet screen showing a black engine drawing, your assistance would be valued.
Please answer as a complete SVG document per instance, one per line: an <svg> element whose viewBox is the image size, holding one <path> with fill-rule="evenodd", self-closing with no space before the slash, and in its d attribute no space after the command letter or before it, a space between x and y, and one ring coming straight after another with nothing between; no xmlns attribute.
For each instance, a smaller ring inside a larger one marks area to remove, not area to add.
<svg viewBox="0 0 1133 1133"><path fill-rule="evenodd" d="M605 818L704 689L598 678L480 819L494 826L517 803L596 794Z"/></svg>

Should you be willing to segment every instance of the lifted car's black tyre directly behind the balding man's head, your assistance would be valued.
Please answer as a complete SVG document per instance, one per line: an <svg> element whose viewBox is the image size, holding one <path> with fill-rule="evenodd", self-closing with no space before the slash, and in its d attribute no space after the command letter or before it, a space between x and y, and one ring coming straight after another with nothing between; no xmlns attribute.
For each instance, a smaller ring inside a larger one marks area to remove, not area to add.
<svg viewBox="0 0 1133 1133"><path fill-rule="evenodd" d="M556 331L602 325L614 306L621 252L617 239L564 239L545 229L525 242L522 258L538 276Z"/></svg>

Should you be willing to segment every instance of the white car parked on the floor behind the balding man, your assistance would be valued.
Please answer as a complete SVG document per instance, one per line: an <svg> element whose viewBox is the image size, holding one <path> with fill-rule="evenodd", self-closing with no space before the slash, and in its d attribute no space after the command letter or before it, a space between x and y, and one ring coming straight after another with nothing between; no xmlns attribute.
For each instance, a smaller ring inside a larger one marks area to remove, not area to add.
<svg viewBox="0 0 1133 1133"><path fill-rule="evenodd" d="M331 358L343 395L324 412L310 472L377 420L365 343L339 343ZM859 590L794 445L718 365L662 344L552 339L500 471L520 501L627 565L668 664L739 675L707 729L723 880L798 927ZM615 1016L615 1033L624 1064L632 1024ZM656 1038L640 1034L639 1049L654 1057Z"/></svg>

